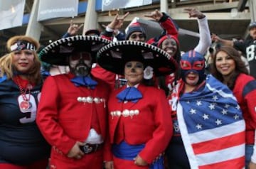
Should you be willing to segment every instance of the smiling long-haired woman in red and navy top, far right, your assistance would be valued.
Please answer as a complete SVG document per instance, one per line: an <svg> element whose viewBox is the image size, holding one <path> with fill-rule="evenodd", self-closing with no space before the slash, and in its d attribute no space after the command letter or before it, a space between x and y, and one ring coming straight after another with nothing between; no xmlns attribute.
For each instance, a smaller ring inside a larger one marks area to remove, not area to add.
<svg viewBox="0 0 256 169"><path fill-rule="evenodd" d="M235 48L221 46L213 58L213 75L233 91L245 119L246 168L256 168L256 80L248 70ZM253 155L252 155L253 154Z"/></svg>

